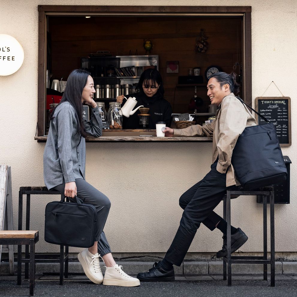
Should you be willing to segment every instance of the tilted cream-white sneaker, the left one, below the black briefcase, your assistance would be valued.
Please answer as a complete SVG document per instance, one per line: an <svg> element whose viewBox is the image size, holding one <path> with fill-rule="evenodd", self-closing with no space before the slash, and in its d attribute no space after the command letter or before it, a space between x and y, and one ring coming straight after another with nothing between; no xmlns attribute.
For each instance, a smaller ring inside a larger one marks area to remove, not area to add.
<svg viewBox="0 0 297 297"><path fill-rule="evenodd" d="M100 269L99 257L101 256L96 253L93 255L89 252L88 248L81 251L78 254L79 262L82 264L85 275L95 284L102 284L103 275Z"/></svg>

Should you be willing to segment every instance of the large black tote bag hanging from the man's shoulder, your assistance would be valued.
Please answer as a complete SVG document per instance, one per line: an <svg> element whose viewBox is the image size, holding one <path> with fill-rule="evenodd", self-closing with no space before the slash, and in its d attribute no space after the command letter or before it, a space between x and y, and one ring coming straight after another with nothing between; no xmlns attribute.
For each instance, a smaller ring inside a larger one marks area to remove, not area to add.
<svg viewBox="0 0 297 297"><path fill-rule="evenodd" d="M254 112L266 123L246 127L236 141L231 158L236 177L246 190L278 184L287 178L275 127L257 111Z"/></svg>

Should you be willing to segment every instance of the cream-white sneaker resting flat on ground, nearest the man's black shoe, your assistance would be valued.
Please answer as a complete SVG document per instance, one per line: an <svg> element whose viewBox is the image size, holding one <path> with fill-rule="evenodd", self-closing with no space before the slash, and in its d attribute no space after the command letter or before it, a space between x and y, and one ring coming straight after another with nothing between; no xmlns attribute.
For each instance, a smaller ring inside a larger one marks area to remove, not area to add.
<svg viewBox="0 0 297 297"><path fill-rule="evenodd" d="M136 287L140 286L140 281L138 278L132 278L123 272L123 266L106 267L103 285L108 286L122 286L122 287Z"/></svg>

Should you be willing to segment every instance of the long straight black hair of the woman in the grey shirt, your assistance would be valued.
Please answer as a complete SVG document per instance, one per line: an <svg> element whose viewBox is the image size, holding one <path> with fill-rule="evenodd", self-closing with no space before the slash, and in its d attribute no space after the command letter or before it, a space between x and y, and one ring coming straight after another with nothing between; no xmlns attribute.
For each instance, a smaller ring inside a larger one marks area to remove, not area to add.
<svg viewBox="0 0 297 297"><path fill-rule="evenodd" d="M82 121L82 91L87 84L89 75L90 73L83 69L73 70L68 76L65 91L59 103L69 102L73 106L75 110L78 133L80 132L82 137L88 136L85 132L85 125ZM55 109L50 116L50 120L53 118Z"/></svg>

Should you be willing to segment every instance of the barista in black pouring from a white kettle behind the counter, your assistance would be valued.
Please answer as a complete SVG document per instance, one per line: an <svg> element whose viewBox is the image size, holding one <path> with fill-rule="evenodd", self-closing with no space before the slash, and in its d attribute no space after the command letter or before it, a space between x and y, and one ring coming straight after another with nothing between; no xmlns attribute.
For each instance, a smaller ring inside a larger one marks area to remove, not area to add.
<svg viewBox="0 0 297 297"><path fill-rule="evenodd" d="M158 70L147 69L141 74L137 88L137 93L128 94L125 97L135 97L138 107L143 105L150 108L149 110L149 129L156 129L156 122L166 122L166 126L170 126L172 108L170 103L164 99L164 88L162 77ZM124 102L123 102L124 100ZM117 97L117 102L126 103L124 95ZM124 129L139 129L138 114L130 115L130 117L123 118Z"/></svg>

